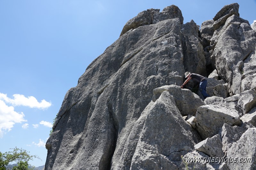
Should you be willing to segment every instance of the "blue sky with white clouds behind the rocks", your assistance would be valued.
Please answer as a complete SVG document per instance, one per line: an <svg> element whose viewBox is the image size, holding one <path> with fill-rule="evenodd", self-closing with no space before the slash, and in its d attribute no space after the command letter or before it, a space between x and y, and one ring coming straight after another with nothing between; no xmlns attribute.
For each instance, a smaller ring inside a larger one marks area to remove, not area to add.
<svg viewBox="0 0 256 170"><path fill-rule="evenodd" d="M139 12L175 4L184 23L212 19L227 4L256 20L256 0L0 0L0 146L22 148L45 164L53 119L87 66Z"/></svg>

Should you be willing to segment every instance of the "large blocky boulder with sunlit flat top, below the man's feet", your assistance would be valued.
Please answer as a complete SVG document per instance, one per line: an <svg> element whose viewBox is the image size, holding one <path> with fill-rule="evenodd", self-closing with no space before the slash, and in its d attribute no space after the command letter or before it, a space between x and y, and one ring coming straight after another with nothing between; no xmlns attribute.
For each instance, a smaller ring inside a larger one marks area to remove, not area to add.
<svg viewBox="0 0 256 170"><path fill-rule="evenodd" d="M196 129L203 140L218 134L224 123L232 126L241 124L237 112L224 107L216 108L215 105L200 106L195 117Z"/></svg>

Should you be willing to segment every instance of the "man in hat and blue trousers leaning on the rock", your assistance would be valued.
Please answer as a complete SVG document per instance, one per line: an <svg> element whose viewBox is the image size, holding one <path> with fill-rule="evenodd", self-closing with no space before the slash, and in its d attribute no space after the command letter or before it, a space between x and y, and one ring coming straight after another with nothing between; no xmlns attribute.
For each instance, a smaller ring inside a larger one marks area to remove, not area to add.
<svg viewBox="0 0 256 170"><path fill-rule="evenodd" d="M195 73L190 73L190 72L186 72L185 73L185 78L187 78L187 80L180 86L181 89L183 89L184 85L190 81L190 79L195 80L196 82L199 82L199 91L202 93L203 98L205 99L206 97L209 97L209 95L206 93L206 86L207 86L207 80L205 77L203 77L202 75L199 74L195 74Z"/></svg>

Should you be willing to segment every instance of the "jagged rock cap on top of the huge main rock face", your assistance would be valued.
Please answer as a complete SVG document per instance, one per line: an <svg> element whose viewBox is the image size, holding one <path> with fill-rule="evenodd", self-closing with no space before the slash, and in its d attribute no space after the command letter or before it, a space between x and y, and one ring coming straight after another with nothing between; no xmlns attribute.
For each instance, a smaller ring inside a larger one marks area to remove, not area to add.
<svg viewBox="0 0 256 170"><path fill-rule="evenodd" d="M122 36L130 29L135 29L137 27L148 25L148 24L156 24L159 21L166 19L178 18L180 20L180 24L183 24L183 16L180 9L175 6L167 6L160 12L160 9L148 9L146 11L138 13L138 15L125 24L123 30L120 34Z"/></svg>

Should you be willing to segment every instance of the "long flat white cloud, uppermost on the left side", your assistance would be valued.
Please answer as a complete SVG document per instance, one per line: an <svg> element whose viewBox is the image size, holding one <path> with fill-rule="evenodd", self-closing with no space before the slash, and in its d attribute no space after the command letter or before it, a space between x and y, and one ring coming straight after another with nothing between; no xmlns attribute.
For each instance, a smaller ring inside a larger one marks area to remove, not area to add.
<svg viewBox="0 0 256 170"><path fill-rule="evenodd" d="M38 102L33 96L25 97L20 94L14 94L12 96L14 99L7 97L6 94L0 93L0 99L13 106L28 106L30 108L46 109L52 105L51 102L47 102L44 99L41 100L41 102Z"/></svg>

